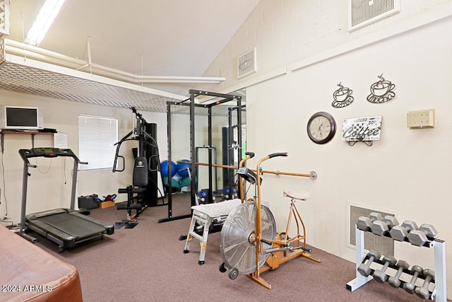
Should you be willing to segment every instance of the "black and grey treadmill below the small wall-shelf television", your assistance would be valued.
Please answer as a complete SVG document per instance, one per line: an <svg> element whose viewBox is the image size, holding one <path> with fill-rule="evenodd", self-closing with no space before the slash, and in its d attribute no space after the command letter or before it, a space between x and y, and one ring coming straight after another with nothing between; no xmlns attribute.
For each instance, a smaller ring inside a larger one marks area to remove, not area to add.
<svg viewBox="0 0 452 302"><path fill-rule="evenodd" d="M37 239L25 233L30 229L39 233L41 236L52 240L59 246L59 252L67 248L73 248L76 244L93 238L103 238L105 234L112 235L114 226L103 221L80 214L74 210L76 201L76 185L78 175L78 164L87 164L81 162L71 149L58 148L32 148L20 149L20 157L23 159L23 187L22 187L22 209L20 214L20 236L26 238L32 243ZM47 157L53 158L66 156L73 158L72 175L72 193L70 209L51 209L25 215L27 207L27 186L28 186L28 168L37 168L32 165L28 158Z"/></svg>

